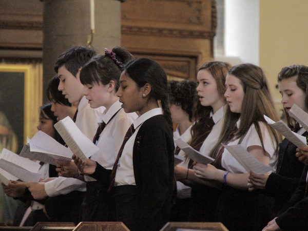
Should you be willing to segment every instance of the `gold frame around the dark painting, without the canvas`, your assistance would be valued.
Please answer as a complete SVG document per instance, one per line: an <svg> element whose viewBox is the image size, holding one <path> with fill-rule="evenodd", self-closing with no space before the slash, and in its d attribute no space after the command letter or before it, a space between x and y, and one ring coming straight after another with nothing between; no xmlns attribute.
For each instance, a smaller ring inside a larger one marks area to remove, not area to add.
<svg viewBox="0 0 308 231"><path fill-rule="evenodd" d="M23 145L27 137L32 138L37 132L39 108L43 102L42 64L0 64L0 72L23 73L24 76L24 132ZM12 107L18 107L11 102ZM9 116L9 115L8 115ZM20 147L22 148L22 147ZM20 149L19 148L19 149Z"/></svg>

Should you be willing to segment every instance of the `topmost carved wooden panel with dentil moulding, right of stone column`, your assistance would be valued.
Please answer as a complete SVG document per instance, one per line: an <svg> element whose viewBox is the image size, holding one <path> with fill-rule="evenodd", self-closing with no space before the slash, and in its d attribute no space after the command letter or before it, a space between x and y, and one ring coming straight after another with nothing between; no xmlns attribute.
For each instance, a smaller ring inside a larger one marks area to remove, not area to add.
<svg viewBox="0 0 308 231"><path fill-rule="evenodd" d="M212 38L215 12L212 1L129 0L122 4L122 33Z"/></svg>

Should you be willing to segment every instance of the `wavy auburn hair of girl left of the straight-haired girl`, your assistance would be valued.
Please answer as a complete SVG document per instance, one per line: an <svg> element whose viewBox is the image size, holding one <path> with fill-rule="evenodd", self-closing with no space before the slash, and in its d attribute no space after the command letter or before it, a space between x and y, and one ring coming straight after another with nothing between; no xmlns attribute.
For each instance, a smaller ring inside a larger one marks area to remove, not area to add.
<svg viewBox="0 0 308 231"><path fill-rule="evenodd" d="M228 70L231 68L231 65L219 61L211 61L204 63L200 70L207 70L214 77L217 85L217 91L224 98L225 92L225 81ZM209 119L210 112L213 110L211 106L202 106L201 102L198 101L196 110L194 112L195 123L191 127L191 144L194 143L203 133L203 129Z"/></svg>

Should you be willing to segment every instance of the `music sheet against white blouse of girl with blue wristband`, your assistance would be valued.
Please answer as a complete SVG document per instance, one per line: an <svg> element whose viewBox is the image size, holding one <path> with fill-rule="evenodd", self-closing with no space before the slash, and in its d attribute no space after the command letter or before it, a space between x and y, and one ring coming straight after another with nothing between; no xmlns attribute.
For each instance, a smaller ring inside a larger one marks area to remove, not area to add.
<svg viewBox="0 0 308 231"><path fill-rule="evenodd" d="M231 155L245 168L247 172L253 171L256 174L266 174L273 171L271 166L267 166L253 157L242 145L224 145Z"/></svg>

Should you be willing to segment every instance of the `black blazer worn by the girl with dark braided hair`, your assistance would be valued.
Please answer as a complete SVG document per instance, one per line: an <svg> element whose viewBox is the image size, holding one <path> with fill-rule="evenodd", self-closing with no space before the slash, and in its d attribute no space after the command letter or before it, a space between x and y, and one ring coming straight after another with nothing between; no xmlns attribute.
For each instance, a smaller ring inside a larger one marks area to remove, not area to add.
<svg viewBox="0 0 308 231"><path fill-rule="evenodd" d="M163 115L146 120L133 145L133 171L139 194L139 230L159 230L168 222L174 190L174 140ZM111 170L98 164L93 178L109 185Z"/></svg>

